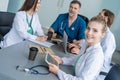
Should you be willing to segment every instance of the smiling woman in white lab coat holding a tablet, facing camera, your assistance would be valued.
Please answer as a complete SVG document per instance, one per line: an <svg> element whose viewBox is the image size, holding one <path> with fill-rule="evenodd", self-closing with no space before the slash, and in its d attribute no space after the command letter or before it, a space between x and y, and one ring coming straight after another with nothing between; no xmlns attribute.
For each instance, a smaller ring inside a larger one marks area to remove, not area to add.
<svg viewBox="0 0 120 80"><path fill-rule="evenodd" d="M75 76L67 74L56 65L49 63L49 70L57 74L60 80L96 80L103 66L104 55L100 40L106 32L105 20L93 17L86 29L86 42L82 44L77 56L60 58L53 56L59 64L73 65Z"/></svg>

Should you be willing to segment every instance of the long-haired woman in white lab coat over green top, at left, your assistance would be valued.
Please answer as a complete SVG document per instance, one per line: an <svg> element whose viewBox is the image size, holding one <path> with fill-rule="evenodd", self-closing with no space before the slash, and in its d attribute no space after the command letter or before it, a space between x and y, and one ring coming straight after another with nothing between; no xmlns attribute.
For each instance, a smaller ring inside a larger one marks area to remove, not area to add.
<svg viewBox="0 0 120 80"><path fill-rule="evenodd" d="M38 19L37 11L39 7L40 0L25 0L21 9L16 13L12 29L4 36L4 41L1 42L2 48L26 39L38 41L45 41L47 39L47 36L44 36Z"/></svg>

